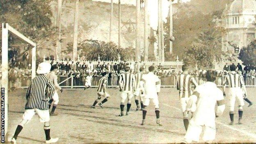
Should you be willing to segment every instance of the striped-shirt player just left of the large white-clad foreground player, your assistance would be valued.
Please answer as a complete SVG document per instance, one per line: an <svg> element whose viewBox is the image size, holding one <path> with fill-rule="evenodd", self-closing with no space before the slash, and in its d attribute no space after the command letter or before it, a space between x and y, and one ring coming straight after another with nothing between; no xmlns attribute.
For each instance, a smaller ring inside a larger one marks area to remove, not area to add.
<svg viewBox="0 0 256 144"><path fill-rule="evenodd" d="M183 112L183 123L185 129L187 130L189 120L188 114L185 113L187 102L189 97L192 95L191 85L193 84L197 87L197 82L191 75L188 74L188 65L184 64L182 66L183 73L177 77L177 90L179 90L180 100L181 100L181 108Z"/></svg>

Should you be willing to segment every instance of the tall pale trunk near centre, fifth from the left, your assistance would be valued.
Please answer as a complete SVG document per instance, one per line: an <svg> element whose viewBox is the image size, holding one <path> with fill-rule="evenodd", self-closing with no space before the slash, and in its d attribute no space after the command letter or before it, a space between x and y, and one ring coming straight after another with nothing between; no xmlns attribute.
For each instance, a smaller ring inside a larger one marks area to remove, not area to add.
<svg viewBox="0 0 256 144"><path fill-rule="evenodd" d="M136 0L136 46L135 46L135 61L140 61L140 45L139 45L139 18L140 17L140 0Z"/></svg>

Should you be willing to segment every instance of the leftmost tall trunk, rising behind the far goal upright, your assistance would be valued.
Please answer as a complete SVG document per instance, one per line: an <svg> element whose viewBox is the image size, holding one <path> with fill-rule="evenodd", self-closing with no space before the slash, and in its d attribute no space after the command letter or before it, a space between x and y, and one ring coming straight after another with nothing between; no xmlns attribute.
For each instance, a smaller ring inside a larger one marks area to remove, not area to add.
<svg viewBox="0 0 256 144"><path fill-rule="evenodd" d="M57 23L56 27L58 27L58 41L57 41L57 51L55 53L55 57L59 56L61 58L61 15L62 15L62 0L58 0L58 8L57 8Z"/></svg>

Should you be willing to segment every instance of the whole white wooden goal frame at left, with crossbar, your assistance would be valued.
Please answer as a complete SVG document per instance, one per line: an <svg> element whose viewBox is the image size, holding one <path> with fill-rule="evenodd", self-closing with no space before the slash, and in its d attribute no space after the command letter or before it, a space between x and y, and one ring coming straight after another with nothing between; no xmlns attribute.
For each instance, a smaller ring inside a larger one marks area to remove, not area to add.
<svg viewBox="0 0 256 144"><path fill-rule="evenodd" d="M36 43L25 37L23 34L15 30L13 27L8 25L8 23L2 23L2 87L1 87L1 105L4 105L5 107L1 108L1 112L5 111L4 113L4 123L5 123L5 136L7 136L8 132L8 32L11 32L12 34L16 35L19 39L22 39L23 41L29 43L32 48L32 78L36 76ZM2 89L4 88L4 89ZM4 96L3 96L4 92ZM4 100L3 100L4 99ZM1 114L2 116L2 114ZM2 118L2 117L1 117ZM2 119L1 119L2 121ZM2 128L2 127L1 127Z"/></svg>

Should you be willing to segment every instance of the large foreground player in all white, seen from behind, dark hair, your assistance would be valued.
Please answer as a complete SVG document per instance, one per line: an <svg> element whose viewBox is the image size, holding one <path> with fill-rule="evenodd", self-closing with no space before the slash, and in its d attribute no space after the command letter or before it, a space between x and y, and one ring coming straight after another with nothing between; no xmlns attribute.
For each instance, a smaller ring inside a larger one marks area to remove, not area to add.
<svg viewBox="0 0 256 144"><path fill-rule="evenodd" d="M214 83L216 77L216 71L207 71L207 82L199 85L190 96L185 112L192 111L194 114L183 143L198 142L202 130L204 142L211 143L215 139L215 117L222 115L225 109L223 93ZM218 106L215 112L216 103Z"/></svg>

